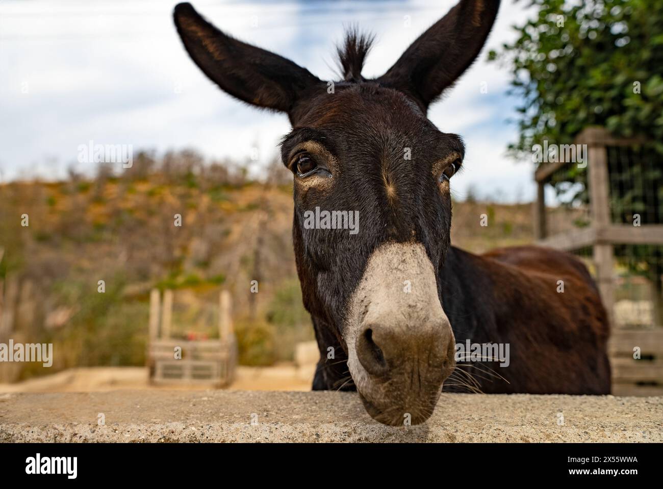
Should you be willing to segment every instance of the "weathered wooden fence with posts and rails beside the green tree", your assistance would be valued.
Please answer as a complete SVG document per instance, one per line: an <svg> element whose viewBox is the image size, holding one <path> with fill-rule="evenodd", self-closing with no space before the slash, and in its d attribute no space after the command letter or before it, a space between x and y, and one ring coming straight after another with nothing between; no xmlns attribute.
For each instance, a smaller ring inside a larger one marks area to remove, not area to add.
<svg viewBox="0 0 663 489"><path fill-rule="evenodd" d="M615 395L662 395L663 394L663 320L661 314L660 275L654 277L656 287L650 295L650 316L647 324L622 324L619 314L615 314L615 247L619 245L653 245L663 247L663 223L660 221L660 204L650 213L648 222L634 219L633 224L615 222L617 214L611 204L617 202L617 192L621 188L619 169L642 162L632 161L629 157L625 162L613 165L613 155L624 154L630 148L638 148L642 144L638 139L617 139L601 127L589 127L582 131L575 140L576 145L586 145L587 158L587 192L589 194L589 226L549 236L546 223L545 185L550 182L558 171L577 165L577 161L564 161L560 151L556 163L540 165L536 170L535 179L538 184L538 198L535 208L535 232L537 244L578 252L589 249L591 267L601 298L611 320L611 339L609 356L613 374L613 394ZM621 153L619 153L621 151ZM638 153L633 153L637 155ZM660 157L650 161L648 165L663 169ZM624 171L624 170L623 170ZM656 180L660 181L660 180ZM648 186L658 186L655 182L643 182ZM648 191L660 192L659 188ZM611 195L612 194L612 195ZM611 200L612 198L612 200ZM660 202L654 195L654 202ZM642 207L642 206L641 206ZM638 216L639 217L639 216ZM652 222L654 221L654 222ZM656 249L660 256L660 249ZM639 301L643 302L643 301Z"/></svg>

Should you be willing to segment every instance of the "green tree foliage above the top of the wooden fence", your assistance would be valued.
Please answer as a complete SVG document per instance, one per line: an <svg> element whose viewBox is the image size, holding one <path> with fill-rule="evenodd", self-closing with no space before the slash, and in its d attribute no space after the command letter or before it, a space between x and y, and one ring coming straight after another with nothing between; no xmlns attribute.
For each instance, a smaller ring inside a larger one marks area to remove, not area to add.
<svg viewBox="0 0 663 489"><path fill-rule="evenodd" d="M663 0L531 0L536 17L491 51L520 96L515 157L543 139L573 142L601 125L650 139L663 154Z"/></svg>

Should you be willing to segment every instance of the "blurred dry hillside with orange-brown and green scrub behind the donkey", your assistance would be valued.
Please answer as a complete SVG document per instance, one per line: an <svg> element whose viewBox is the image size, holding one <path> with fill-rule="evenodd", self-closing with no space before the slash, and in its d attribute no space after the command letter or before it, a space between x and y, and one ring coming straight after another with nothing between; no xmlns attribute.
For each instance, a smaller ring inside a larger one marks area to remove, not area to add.
<svg viewBox="0 0 663 489"><path fill-rule="evenodd" d="M93 179L0 186L1 307L5 317L14 313L0 342L10 334L53 342L60 354L52 372L140 366L152 287L177 290L180 336L214 336L215 295L226 287L241 362L289 360L294 342L313 338L294 265L291 184L282 175L247 181L241 169L204 165L190 152L139 158L121 177L102 168ZM21 226L24 214L29 226ZM481 214L488 226L480 225ZM531 240L530 204L453 204L459 247L481 252ZM97 291L101 280L104 293ZM257 294L249 291L252 280ZM44 370L2 368L5 382Z"/></svg>

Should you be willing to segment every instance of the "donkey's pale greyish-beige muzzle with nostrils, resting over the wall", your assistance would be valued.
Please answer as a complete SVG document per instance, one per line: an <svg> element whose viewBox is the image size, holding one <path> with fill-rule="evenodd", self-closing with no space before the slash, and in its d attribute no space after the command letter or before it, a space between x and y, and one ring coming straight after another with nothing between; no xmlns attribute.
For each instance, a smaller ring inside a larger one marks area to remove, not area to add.
<svg viewBox="0 0 663 489"><path fill-rule="evenodd" d="M421 244L385 244L371 255L346 332L349 370L368 413L388 425L426 421L455 365L455 345Z"/></svg>

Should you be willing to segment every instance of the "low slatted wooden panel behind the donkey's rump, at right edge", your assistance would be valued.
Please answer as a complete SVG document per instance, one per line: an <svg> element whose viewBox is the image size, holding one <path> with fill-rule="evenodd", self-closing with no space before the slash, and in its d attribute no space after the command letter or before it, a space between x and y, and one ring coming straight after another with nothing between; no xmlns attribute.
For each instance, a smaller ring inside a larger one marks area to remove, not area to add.
<svg viewBox="0 0 663 489"><path fill-rule="evenodd" d="M608 354L613 395L663 395L663 329L613 330Z"/></svg>

